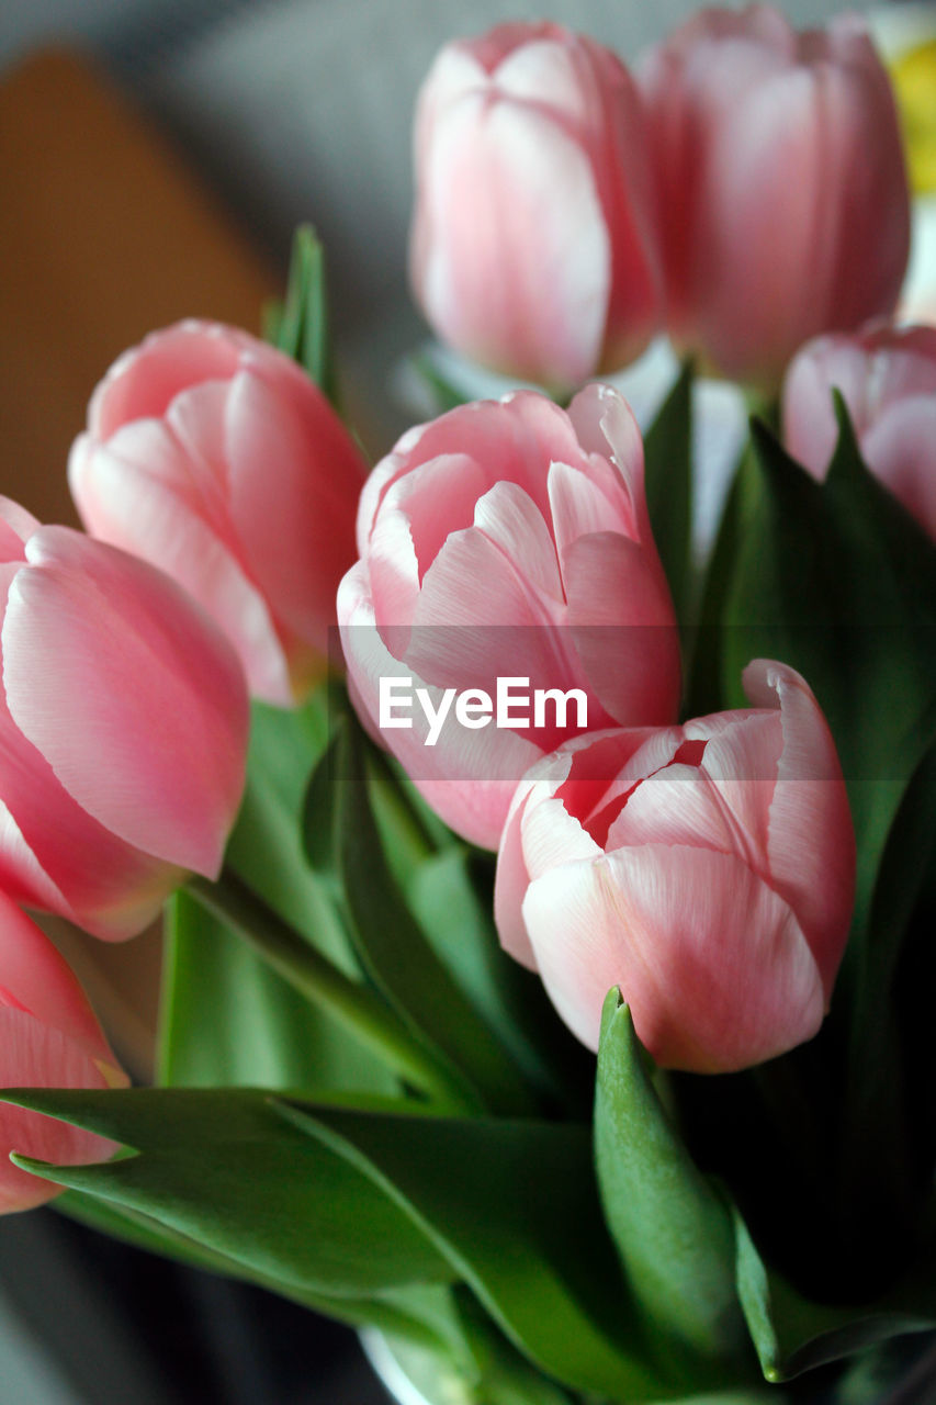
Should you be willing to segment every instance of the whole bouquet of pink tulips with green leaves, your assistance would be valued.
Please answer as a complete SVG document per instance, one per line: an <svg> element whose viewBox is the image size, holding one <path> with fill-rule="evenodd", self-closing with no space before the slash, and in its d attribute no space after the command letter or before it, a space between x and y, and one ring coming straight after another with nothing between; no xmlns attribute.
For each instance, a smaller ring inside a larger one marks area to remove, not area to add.
<svg viewBox="0 0 936 1405"><path fill-rule="evenodd" d="M512 24L441 52L415 153L416 296L500 399L433 362L368 475L302 232L266 341L107 372L87 535L0 506L3 1208L378 1332L433 1405L880 1401L936 1329L888 79L854 18L710 10L634 73ZM661 333L638 427L593 378ZM752 419L700 548L703 374ZM164 910L156 1087L24 909Z"/></svg>

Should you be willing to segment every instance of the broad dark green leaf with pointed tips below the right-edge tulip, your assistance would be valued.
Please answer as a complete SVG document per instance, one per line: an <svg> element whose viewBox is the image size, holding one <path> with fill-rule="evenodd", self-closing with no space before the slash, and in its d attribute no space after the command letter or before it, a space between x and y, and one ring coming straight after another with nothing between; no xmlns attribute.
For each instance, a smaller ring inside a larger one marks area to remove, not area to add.
<svg viewBox="0 0 936 1405"><path fill-rule="evenodd" d="M860 912L897 806L936 732L936 549L863 465L840 407L814 482L755 423L762 475L728 604L727 687L776 658L812 687L835 736L859 842Z"/></svg>

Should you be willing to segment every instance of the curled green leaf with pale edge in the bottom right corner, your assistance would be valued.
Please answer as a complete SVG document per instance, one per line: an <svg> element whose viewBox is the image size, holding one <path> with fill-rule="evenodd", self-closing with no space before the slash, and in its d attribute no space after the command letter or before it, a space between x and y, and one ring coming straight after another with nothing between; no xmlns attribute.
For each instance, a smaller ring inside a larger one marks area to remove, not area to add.
<svg viewBox="0 0 936 1405"><path fill-rule="evenodd" d="M735 1239L738 1293L769 1381L790 1380L890 1338L936 1326L932 1242L919 1266L880 1300L839 1308L808 1301L769 1270L738 1214Z"/></svg>

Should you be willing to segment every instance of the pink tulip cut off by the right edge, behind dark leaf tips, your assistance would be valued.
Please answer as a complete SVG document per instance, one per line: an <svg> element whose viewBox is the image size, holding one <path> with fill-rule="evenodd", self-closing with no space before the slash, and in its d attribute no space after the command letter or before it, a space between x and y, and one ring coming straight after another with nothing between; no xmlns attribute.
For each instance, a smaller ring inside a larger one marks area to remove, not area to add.
<svg viewBox="0 0 936 1405"><path fill-rule="evenodd" d="M787 448L825 478L838 426L832 389L849 407L869 468L936 538L936 327L870 326L810 341L783 391Z"/></svg>

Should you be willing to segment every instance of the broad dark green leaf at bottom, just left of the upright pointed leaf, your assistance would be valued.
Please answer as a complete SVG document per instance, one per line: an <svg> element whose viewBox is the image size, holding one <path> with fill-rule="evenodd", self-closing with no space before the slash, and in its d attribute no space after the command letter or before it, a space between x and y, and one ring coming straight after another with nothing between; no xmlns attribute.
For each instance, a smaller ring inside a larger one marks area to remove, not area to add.
<svg viewBox="0 0 936 1405"><path fill-rule="evenodd" d="M281 1107L412 1215L547 1375L613 1399L672 1395L634 1347L587 1128Z"/></svg>

